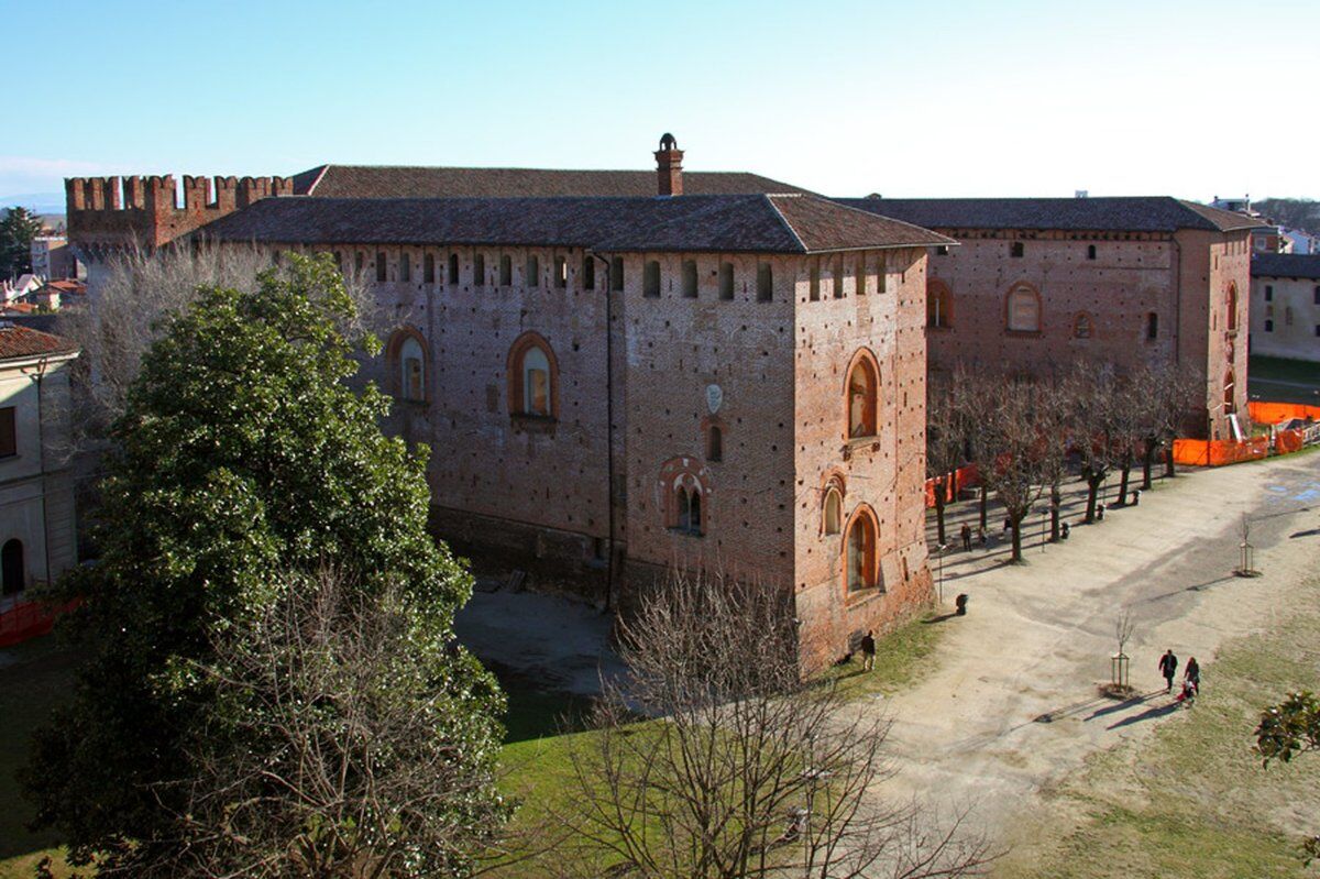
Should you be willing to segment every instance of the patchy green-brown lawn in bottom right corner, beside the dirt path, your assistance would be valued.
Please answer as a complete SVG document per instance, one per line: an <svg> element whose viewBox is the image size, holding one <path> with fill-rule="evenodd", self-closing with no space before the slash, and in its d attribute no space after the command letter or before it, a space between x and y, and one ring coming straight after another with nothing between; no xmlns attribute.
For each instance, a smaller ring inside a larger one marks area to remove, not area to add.
<svg viewBox="0 0 1320 879"><path fill-rule="evenodd" d="M1304 606L1315 608L1320 581ZM1300 606L1302 602L1298 603ZM1299 607L1300 611L1300 607ZM1320 614L1300 611L1203 664L1205 692L1143 744L1096 755L1048 797L997 876L1313 876L1300 838L1320 831L1320 754L1261 767L1259 711L1287 692L1320 689Z"/></svg>

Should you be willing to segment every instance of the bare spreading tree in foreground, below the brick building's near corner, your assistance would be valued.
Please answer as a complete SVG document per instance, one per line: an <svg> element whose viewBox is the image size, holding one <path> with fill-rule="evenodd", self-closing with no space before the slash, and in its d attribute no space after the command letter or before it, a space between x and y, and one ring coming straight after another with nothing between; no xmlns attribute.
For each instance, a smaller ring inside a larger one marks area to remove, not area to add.
<svg viewBox="0 0 1320 879"><path fill-rule="evenodd" d="M630 673L573 755L565 874L647 879L974 875L958 816L933 830L875 785L888 723L804 684L789 590L675 575L620 623ZM643 721L643 717L653 718Z"/></svg>

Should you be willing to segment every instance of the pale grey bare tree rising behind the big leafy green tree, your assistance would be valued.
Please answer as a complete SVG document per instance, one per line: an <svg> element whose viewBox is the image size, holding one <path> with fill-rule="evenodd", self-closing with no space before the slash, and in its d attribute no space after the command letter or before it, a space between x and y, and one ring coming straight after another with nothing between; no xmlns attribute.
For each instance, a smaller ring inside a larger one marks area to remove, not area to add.
<svg viewBox="0 0 1320 879"><path fill-rule="evenodd" d="M57 330L82 348L74 383L74 449L96 447L123 412L143 354L156 341L161 318L193 302L207 286L257 289L261 272L277 271L273 251L244 244L124 251L111 257L103 282L88 301L59 311ZM356 304L350 335L380 329L383 313L358 273L345 278ZM70 450L70 451L73 451Z"/></svg>

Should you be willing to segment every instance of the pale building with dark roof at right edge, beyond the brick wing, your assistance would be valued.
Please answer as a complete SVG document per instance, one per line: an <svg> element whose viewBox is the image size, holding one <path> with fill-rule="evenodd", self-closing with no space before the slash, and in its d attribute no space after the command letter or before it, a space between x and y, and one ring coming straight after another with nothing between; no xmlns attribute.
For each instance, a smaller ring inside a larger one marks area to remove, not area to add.
<svg viewBox="0 0 1320 879"><path fill-rule="evenodd" d="M1320 362L1320 255L1251 259L1251 352Z"/></svg>

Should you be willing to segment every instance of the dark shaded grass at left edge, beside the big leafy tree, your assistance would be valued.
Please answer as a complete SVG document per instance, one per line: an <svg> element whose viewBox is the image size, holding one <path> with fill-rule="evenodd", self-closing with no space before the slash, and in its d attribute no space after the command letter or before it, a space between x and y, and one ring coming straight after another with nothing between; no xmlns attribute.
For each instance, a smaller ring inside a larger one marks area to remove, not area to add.
<svg viewBox="0 0 1320 879"><path fill-rule="evenodd" d="M59 857L58 838L29 833L32 808L18 791L15 772L28 759L32 734L69 694L75 655L53 637L0 649L0 879L29 879L42 857Z"/></svg>

